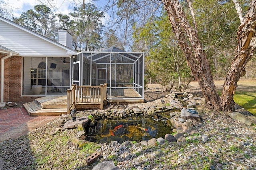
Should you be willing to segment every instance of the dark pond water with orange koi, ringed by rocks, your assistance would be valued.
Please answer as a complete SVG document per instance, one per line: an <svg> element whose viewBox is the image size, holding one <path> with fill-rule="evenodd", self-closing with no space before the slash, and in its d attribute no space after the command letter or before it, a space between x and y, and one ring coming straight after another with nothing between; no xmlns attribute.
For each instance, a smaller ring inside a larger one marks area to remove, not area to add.
<svg viewBox="0 0 256 170"><path fill-rule="evenodd" d="M148 141L171 133L166 119L154 117L129 117L122 120L99 120L94 126L86 127L86 141L110 143L117 141Z"/></svg>

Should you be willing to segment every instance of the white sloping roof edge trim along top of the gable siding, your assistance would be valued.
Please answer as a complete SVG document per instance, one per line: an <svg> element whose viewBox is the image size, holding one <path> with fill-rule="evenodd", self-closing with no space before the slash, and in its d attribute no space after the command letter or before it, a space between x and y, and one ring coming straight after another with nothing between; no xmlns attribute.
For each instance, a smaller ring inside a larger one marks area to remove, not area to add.
<svg viewBox="0 0 256 170"><path fill-rule="evenodd" d="M39 37L39 38L41 38L41 39L43 39L43 40L45 40L45 41L47 41L47 42L49 42L49 43L52 43L52 44L54 44L54 45L56 45L56 46L58 46L58 47L60 47L60 48L62 48L62 49L67 50L68 55L76 55L76 54L77 54L77 52L76 52L75 50L70 49L69 47L66 47L65 45L62 45L62 44L60 44L60 43L57 43L56 41L53 41L53 40L51 40L51 39L49 39L49 38L47 38L47 37L45 37L45 36L43 36L43 35L40 35L40 34L34 32L34 31L30 30L30 29L27 29L27 28L25 28L25 27L23 27L23 26L17 24L17 23L14 23L13 21L10 21L10 20L8 20L8 19L6 19L6 18L3 18L3 17L1 17L1 16L0 16L0 20L4 21L4 22L6 22L6 23L9 23L10 25L13 25L14 27L17 27L17 28L19 28L19 29L22 29L23 31L26 31L26 32L28 32L28 33L30 33L30 34L36 36L36 37Z"/></svg>

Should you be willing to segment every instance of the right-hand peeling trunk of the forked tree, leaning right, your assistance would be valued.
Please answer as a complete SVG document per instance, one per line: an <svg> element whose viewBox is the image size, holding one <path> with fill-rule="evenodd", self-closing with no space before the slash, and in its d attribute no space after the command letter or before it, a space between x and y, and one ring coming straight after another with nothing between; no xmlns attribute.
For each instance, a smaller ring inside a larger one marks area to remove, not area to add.
<svg viewBox="0 0 256 170"><path fill-rule="evenodd" d="M231 67L226 76L226 81L223 85L221 106L224 110L234 111L234 92L236 90L237 82L241 76L246 73L245 66L252 58L252 52L256 47L255 41L255 27L256 27L256 0L252 0L250 8L242 24L238 28L237 39L238 45L236 47L236 56L231 64Z"/></svg>

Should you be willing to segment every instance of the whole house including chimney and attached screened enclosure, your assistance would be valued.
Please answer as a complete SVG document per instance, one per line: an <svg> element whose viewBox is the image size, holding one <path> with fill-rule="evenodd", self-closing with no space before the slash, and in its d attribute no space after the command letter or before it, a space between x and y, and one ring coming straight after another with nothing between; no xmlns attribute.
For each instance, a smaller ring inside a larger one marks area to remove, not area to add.
<svg viewBox="0 0 256 170"><path fill-rule="evenodd" d="M144 101L144 53L116 47L77 53L66 30L58 31L57 43L2 17L0 30L1 102L63 96L72 84L104 83L110 102ZM76 97L92 98L95 88L79 88Z"/></svg>

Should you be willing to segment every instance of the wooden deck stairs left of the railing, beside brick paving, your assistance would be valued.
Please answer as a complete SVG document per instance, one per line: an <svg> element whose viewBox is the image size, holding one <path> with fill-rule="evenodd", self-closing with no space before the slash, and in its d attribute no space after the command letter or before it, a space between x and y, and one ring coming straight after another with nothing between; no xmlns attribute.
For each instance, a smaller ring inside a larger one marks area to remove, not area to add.
<svg viewBox="0 0 256 170"><path fill-rule="evenodd" d="M67 96L45 96L23 104L30 116L56 116L67 114Z"/></svg>

